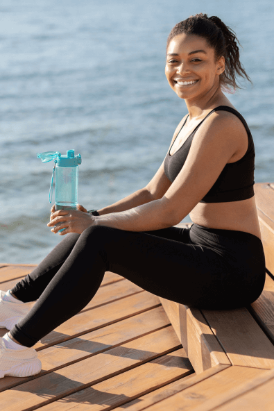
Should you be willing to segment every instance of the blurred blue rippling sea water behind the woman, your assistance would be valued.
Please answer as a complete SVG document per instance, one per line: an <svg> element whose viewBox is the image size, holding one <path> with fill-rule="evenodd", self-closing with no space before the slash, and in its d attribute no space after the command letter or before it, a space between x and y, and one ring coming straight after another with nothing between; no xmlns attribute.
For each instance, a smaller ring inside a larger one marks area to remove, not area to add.
<svg viewBox="0 0 274 411"><path fill-rule="evenodd" d="M151 180L187 113L164 75L166 38L198 12L237 33L253 85L226 95L255 141L255 182L274 181L272 0L1 0L0 262L38 263L63 238L46 226L53 162L36 153L81 154L88 210Z"/></svg>

